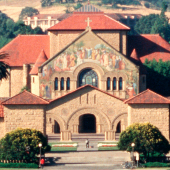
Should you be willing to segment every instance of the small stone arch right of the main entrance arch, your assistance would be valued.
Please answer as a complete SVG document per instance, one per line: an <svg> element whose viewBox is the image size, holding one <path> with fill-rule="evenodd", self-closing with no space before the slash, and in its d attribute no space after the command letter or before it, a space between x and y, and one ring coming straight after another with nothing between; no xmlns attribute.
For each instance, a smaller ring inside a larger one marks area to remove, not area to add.
<svg viewBox="0 0 170 170"><path fill-rule="evenodd" d="M125 128L127 127L127 116L128 116L127 113L121 113L114 118L114 120L112 121L113 131L116 132L116 127L120 121L121 121L121 129L125 130Z"/></svg>

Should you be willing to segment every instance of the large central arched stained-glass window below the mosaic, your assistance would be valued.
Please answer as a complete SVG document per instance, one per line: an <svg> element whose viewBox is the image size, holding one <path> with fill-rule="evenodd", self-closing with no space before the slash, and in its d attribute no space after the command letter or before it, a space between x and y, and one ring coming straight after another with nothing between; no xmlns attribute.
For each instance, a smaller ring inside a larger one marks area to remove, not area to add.
<svg viewBox="0 0 170 170"><path fill-rule="evenodd" d="M79 76L79 87L85 84L98 87L98 76L92 69L83 70Z"/></svg>

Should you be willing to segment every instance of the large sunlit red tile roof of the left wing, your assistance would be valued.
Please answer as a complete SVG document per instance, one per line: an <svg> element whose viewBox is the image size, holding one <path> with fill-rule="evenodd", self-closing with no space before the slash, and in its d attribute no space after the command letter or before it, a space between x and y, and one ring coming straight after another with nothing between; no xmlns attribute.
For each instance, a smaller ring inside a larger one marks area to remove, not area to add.
<svg viewBox="0 0 170 170"><path fill-rule="evenodd" d="M5 59L9 66L23 66L23 64L34 64L42 49L49 58L50 38L48 35L19 35L1 48L0 52L9 54L9 57Z"/></svg>

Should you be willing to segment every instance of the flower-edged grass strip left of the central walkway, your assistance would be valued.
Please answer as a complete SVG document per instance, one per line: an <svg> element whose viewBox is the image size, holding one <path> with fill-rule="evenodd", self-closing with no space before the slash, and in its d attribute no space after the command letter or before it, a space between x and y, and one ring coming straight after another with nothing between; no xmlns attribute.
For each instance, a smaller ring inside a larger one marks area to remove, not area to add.
<svg viewBox="0 0 170 170"><path fill-rule="evenodd" d="M77 146L73 147L65 147L65 146L52 146L52 145L72 145L77 144L77 142L55 142L55 143L49 143L51 146L51 151L57 151L57 152L64 152L64 151L77 151Z"/></svg>

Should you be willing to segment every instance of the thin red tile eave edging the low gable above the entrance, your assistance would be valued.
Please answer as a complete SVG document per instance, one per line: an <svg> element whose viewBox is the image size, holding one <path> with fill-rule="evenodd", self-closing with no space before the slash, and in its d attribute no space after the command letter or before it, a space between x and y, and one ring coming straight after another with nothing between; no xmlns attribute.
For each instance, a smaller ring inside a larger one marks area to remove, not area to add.
<svg viewBox="0 0 170 170"><path fill-rule="evenodd" d="M111 96L111 97L114 97L114 98L116 98L116 99L118 99L118 100L124 101L124 99L121 99L121 98L119 98L119 97L117 97L117 96L114 96L114 95L112 95L112 94L110 94L110 93L107 93L107 92L105 92L105 91L103 91L103 90L101 90L101 89L98 89L97 87L94 87L94 86L92 86L92 85L84 85L84 86L81 86L81 87L77 88L76 90L73 90L73 91L71 91L71 92L69 92L69 93L67 93L67 94L65 94L65 95L63 95L63 96L60 96L60 97L58 97L58 98L56 98L56 99L53 99L53 100L50 100L49 102L52 103L52 102L54 102L54 101L56 101L56 100L59 100L59 99L65 97L65 96L70 95L70 94L72 94L72 93L74 93L74 92L76 92L76 91L78 91L78 90L80 90L80 89L83 89L83 88L85 88L85 87L92 87L92 88L94 88L94 89L96 89L96 90L98 90L98 91L101 91L102 93L105 93L105 94L107 94L107 95L109 95L109 96Z"/></svg>

